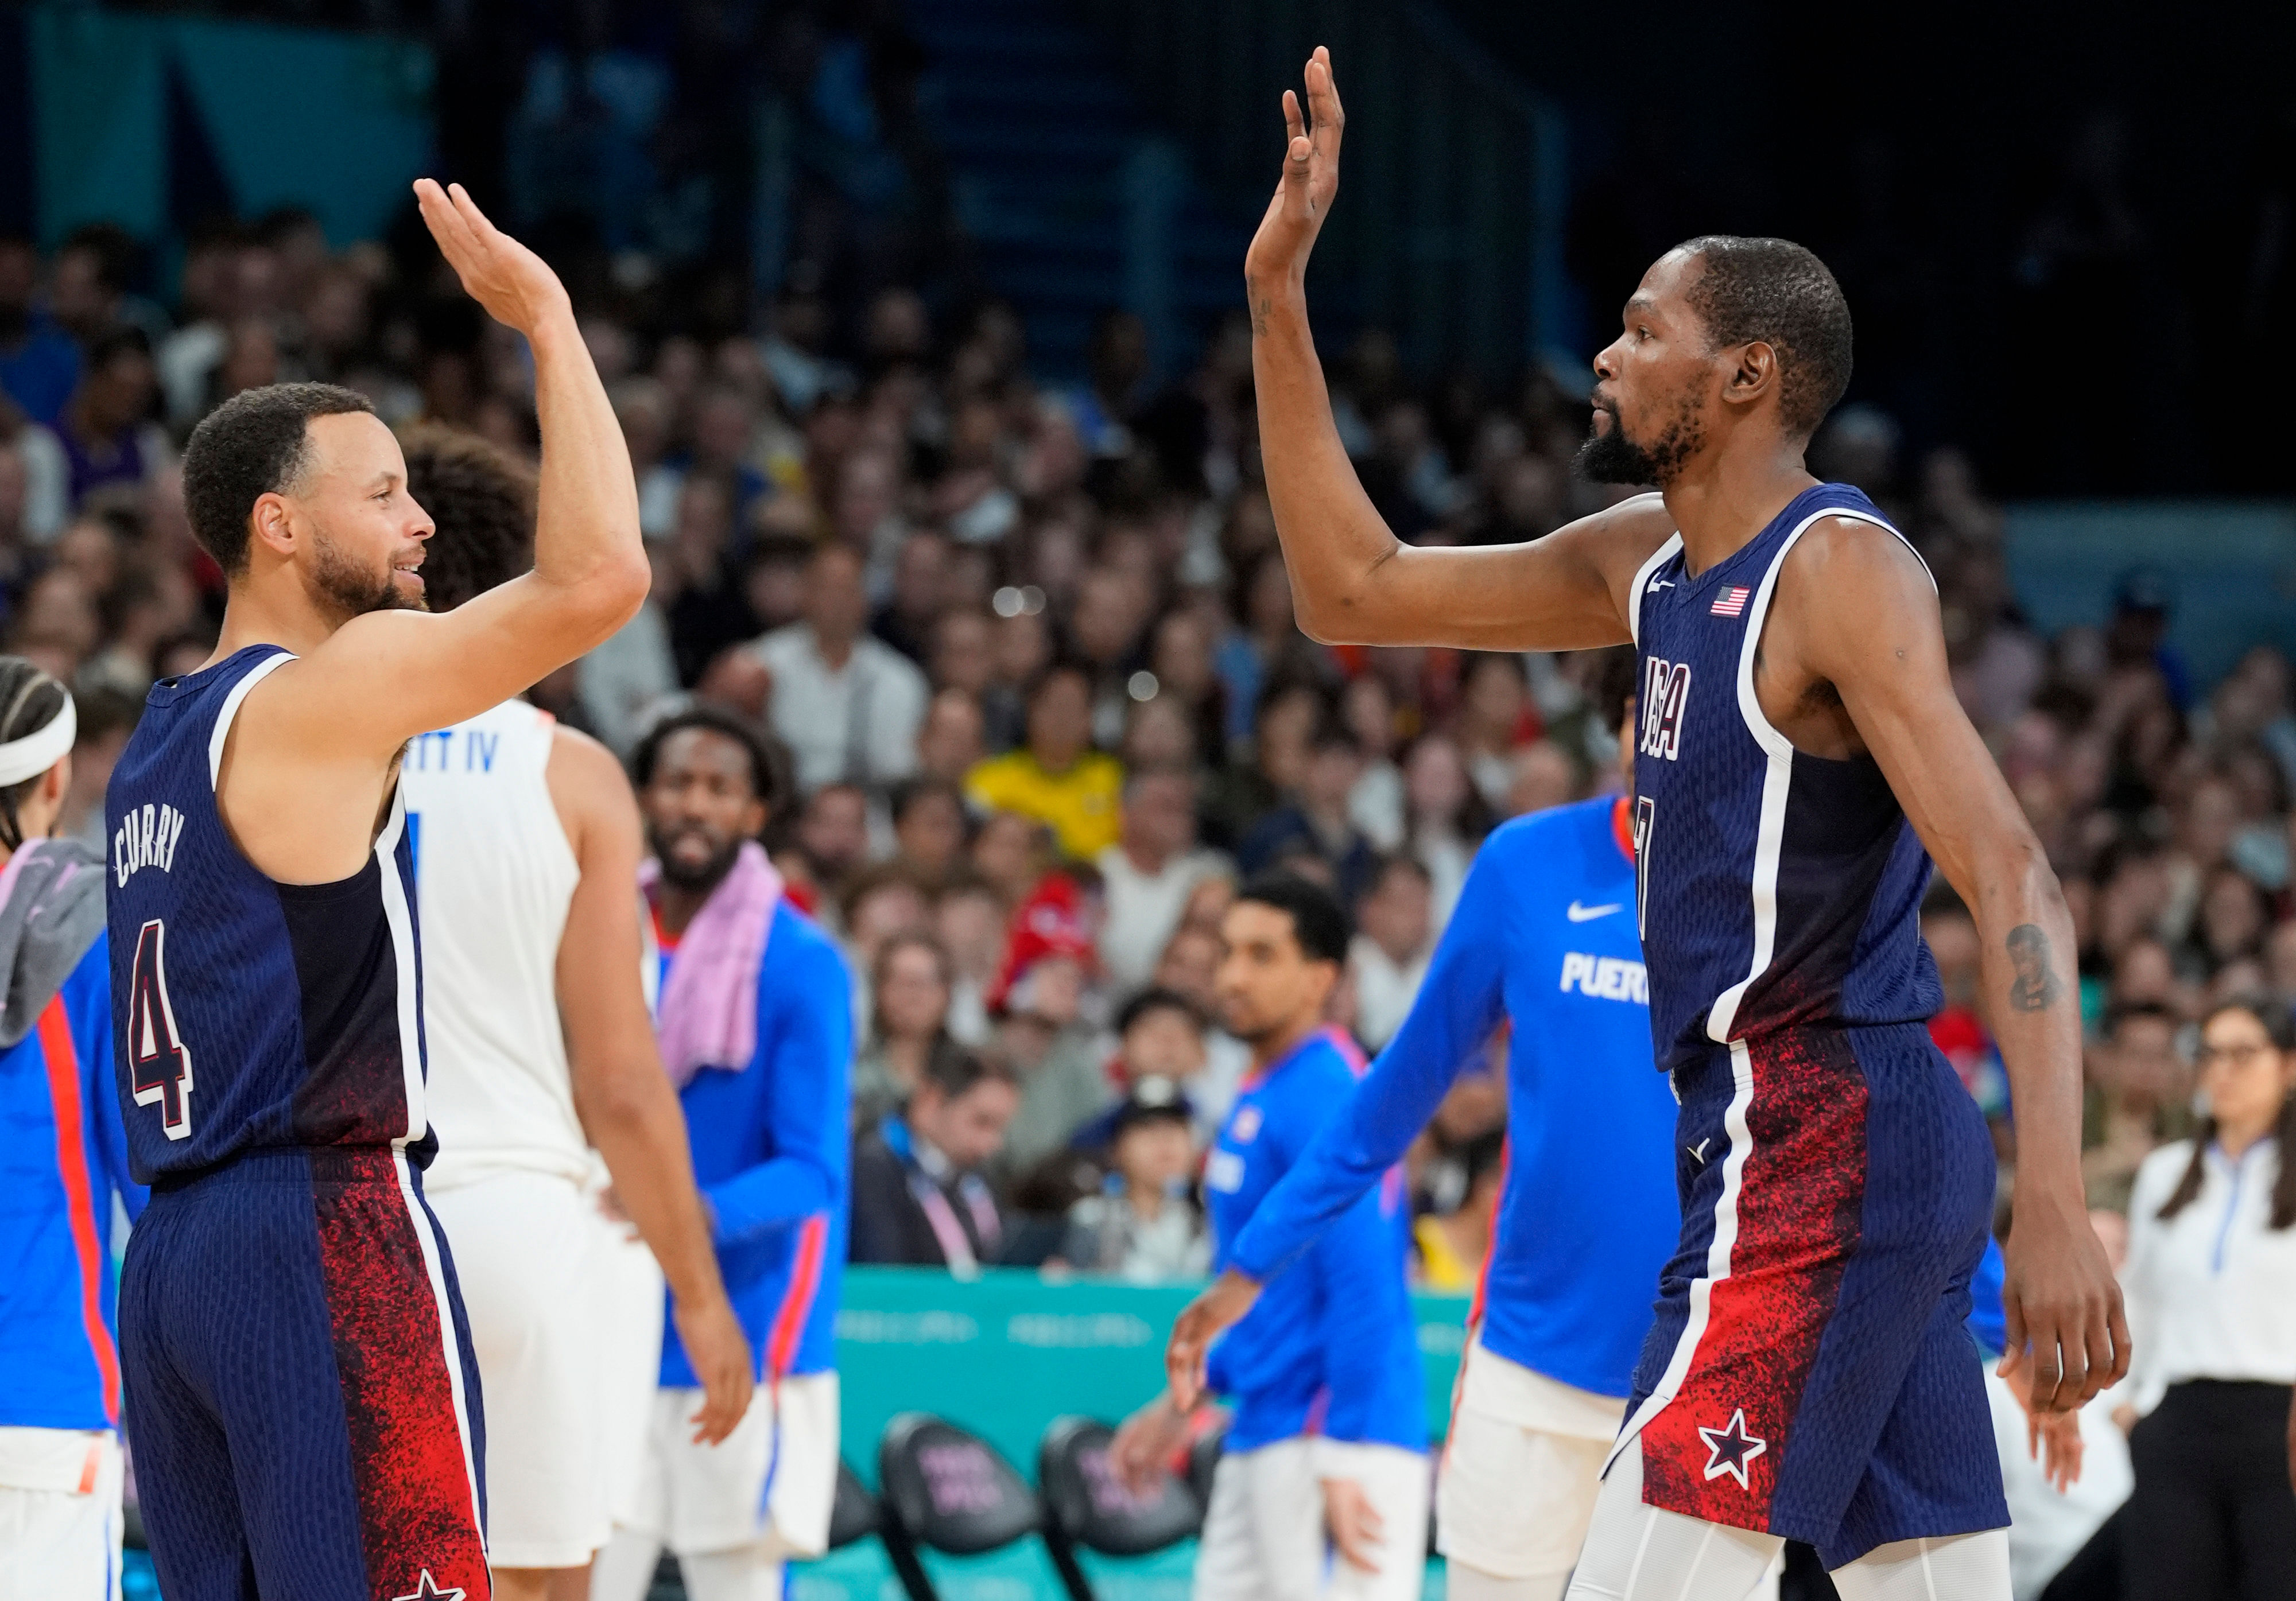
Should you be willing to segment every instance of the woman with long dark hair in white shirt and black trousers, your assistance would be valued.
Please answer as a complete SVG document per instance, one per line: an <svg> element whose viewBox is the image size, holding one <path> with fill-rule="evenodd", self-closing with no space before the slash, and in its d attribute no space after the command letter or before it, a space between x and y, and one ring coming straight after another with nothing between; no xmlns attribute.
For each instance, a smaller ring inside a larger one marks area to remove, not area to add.
<svg viewBox="0 0 2296 1601"><path fill-rule="evenodd" d="M2296 1021L2236 1000L2200 1028L2209 1117L2128 1202L2131 1596L2296 1601Z"/></svg>

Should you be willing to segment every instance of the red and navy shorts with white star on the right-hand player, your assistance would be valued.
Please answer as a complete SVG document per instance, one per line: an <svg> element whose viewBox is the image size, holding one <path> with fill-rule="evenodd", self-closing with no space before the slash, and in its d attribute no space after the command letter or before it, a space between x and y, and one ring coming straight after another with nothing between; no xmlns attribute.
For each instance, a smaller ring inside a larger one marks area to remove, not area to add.
<svg viewBox="0 0 2296 1601"><path fill-rule="evenodd" d="M2004 1528L1965 1328L1993 1145L1926 1030L1773 1032L1674 1078L1683 1236L1619 1436L1644 1500L1828 1567Z"/></svg>

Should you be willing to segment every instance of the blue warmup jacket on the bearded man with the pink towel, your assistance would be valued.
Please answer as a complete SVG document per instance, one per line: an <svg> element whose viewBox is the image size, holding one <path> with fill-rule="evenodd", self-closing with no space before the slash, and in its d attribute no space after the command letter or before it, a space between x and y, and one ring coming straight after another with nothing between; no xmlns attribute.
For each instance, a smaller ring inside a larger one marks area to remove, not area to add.
<svg viewBox="0 0 2296 1601"><path fill-rule="evenodd" d="M675 950L661 954L668 979ZM758 1379L838 1365L838 1287L852 1204L854 1009L845 956L781 901L758 973L758 1055L739 1073L705 1067L677 1101L693 1181L716 1220L719 1271ZM664 1388L693 1388L670 1323Z"/></svg>

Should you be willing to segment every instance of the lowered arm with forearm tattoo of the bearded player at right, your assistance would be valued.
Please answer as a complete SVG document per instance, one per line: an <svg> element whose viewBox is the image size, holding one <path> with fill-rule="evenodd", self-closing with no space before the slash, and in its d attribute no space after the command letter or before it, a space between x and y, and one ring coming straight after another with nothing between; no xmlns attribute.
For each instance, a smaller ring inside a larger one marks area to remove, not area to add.
<svg viewBox="0 0 2296 1601"><path fill-rule="evenodd" d="M2064 895L1954 697L1938 594L1919 557L1871 525L1818 523L1779 587L1793 594L1773 612L1793 619L1784 654L1841 695L1977 917L1986 1016L2018 1122L2004 1372L2030 1362L2032 1408L2071 1411L2128 1372L2128 1323L2080 1186L2080 1002Z"/></svg>

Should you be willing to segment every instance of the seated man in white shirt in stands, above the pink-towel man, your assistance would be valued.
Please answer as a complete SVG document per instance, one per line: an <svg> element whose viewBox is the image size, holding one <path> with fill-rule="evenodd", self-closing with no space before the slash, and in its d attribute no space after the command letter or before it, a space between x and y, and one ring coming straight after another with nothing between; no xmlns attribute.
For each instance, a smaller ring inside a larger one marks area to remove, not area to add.
<svg viewBox="0 0 2296 1601"><path fill-rule="evenodd" d="M806 615L751 649L774 674L774 732L808 794L845 780L882 789L916 771L925 674L868 635L863 557L822 546L806 569Z"/></svg>

